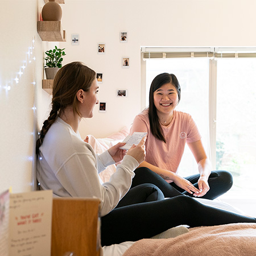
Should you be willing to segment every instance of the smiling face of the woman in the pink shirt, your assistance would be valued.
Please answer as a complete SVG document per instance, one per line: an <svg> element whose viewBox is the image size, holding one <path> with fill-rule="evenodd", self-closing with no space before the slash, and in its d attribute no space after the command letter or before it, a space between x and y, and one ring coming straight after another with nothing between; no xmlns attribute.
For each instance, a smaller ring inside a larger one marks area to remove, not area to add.
<svg viewBox="0 0 256 256"><path fill-rule="evenodd" d="M154 92L154 105L159 115L172 115L179 102L177 90L170 82Z"/></svg>

